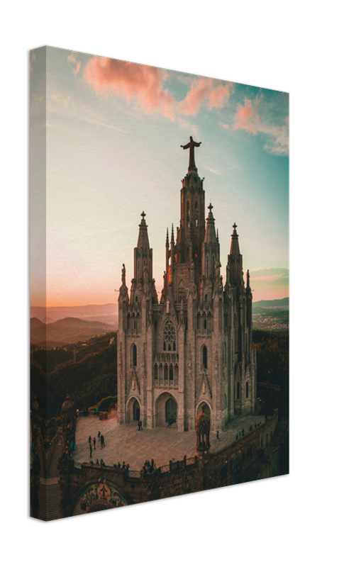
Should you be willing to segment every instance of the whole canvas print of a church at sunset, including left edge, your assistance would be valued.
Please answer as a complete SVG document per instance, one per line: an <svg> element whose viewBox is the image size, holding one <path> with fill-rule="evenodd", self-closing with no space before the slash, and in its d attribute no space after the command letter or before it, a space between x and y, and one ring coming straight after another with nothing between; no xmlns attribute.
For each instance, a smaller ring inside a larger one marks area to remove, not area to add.
<svg viewBox="0 0 361 567"><path fill-rule="evenodd" d="M287 475L289 93L31 50L30 517Z"/></svg>

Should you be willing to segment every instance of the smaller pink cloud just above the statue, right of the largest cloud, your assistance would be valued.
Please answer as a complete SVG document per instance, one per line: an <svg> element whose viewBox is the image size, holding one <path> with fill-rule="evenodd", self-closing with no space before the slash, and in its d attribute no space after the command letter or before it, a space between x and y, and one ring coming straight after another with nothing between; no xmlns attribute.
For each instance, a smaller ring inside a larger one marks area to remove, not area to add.
<svg viewBox="0 0 361 567"><path fill-rule="evenodd" d="M209 110L223 108L233 90L233 83L230 82L214 86L214 79L211 77L194 79L191 89L186 98L179 103L177 110L182 114L195 116L201 106L206 106Z"/></svg>

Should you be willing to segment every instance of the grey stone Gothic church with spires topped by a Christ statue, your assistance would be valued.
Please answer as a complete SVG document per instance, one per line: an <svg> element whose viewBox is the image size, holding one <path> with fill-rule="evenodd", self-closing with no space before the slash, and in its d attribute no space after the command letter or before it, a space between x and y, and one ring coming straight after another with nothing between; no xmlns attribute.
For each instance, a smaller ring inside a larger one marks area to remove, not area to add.
<svg viewBox="0 0 361 567"><path fill-rule="evenodd" d="M126 266L118 297L118 422L143 427L177 424L196 429L202 408L211 432L235 415L255 411L256 356L252 347L252 293L249 271L233 224L226 282L213 206L205 216L203 179L194 159L180 191L180 221L165 240L160 301L152 276L152 248L145 213L140 216L130 292ZM230 223L231 224L231 223ZM231 232L231 228L230 228Z"/></svg>

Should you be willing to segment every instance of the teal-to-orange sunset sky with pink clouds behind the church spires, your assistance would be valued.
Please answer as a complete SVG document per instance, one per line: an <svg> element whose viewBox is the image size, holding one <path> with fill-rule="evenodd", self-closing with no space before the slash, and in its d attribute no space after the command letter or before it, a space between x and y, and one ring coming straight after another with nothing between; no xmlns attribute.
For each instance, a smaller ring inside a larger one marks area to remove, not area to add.
<svg viewBox="0 0 361 567"><path fill-rule="evenodd" d="M233 224L253 301L289 296L289 94L40 47L30 51L30 305L116 303L143 211L160 291L192 136L221 274Z"/></svg>

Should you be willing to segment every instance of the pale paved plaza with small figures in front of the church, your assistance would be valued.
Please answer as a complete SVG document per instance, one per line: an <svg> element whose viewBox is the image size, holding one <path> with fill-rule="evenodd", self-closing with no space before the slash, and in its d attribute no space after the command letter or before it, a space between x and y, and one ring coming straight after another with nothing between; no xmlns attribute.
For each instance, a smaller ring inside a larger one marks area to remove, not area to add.
<svg viewBox="0 0 361 567"><path fill-rule="evenodd" d="M236 417L226 425L226 431L219 432L219 440L216 433L210 434L210 452L216 452L227 447L235 441L236 433L243 429L245 434L249 433L250 425L265 422L265 415L249 415ZM105 447L101 447L98 440L98 432L104 436ZM96 438L96 449L92 444L92 455L89 451L89 435L91 439ZM157 467L169 464L171 459L182 460L196 454L196 432L178 431L177 424L170 427L158 426L155 429L144 428L138 431L138 422L130 422L119 425L116 417L110 420L99 420L95 415L79 417L75 433L76 449L72 451L72 458L78 463L103 459L106 466L117 464L129 464L130 470L140 471L146 459L154 459Z"/></svg>

